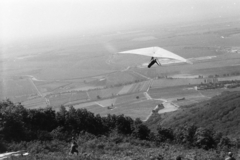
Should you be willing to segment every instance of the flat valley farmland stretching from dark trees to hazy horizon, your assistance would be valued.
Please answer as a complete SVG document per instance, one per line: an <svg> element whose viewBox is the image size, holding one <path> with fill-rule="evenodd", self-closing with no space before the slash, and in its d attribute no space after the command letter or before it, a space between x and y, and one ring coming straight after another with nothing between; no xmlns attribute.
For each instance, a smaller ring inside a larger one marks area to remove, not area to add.
<svg viewBox="0 0 240 160"><path fill-rule="evenodd" d="M73 105L101 115L144 119L159 103L154 99L181 106L239 90L194 88L209 76L217 75L219 81L239 79L235 74L240 54L231 52L239 47L239 27L239 22L225 20L13 45L4 50L7 56L0 57L0 99L10 98L28 108ZM164 61L161 67L149 69L149 57L116 54L151 46L193 64Z"/></svg>

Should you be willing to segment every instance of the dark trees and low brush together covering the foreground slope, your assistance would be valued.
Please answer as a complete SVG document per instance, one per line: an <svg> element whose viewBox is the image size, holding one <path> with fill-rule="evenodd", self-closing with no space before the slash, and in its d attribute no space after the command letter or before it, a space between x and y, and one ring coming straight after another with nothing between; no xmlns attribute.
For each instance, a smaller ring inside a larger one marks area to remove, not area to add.
<svg viewBox="0 0 240 160"><path fill-rule="evenodd" d="M74 137L79 155L68 155ZM239 142L212 129L185 125L151 131L140 119L101 117L86 109L26 109L0 102L0 153L27 150L27 159L184 159L222 160ZM24 159L24 157L20 157Z"/></svg>

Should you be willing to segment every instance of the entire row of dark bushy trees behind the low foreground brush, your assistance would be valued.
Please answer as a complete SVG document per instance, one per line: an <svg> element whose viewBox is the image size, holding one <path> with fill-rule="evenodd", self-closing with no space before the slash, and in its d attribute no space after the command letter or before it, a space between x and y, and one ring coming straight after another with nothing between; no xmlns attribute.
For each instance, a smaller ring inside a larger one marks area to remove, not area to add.
<svg viewBox="0 0 240 160"><path fill-rule="evenodd" d="M26 109L6 100L0 102L0 152L7 150L4 144L30 141L60 140L69 142L71 137L84 134L110 137L113 133L160 145L174 143L211 149L230 147L231 141L221 133L196 126L181 128L158 127L153 133L140 119L133 120L124 115L101 117L86 109L61 107ZM117 143L117 142L116 142Z"/></svg>

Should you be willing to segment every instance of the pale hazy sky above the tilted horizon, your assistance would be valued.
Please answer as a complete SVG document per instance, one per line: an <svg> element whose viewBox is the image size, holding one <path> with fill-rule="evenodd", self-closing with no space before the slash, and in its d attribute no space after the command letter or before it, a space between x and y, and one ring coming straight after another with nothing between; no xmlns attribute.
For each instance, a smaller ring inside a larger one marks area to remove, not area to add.
<svg viewBox="0 0 240 160"><path fill-rule="evenodd" d="M239 0L0 0L0 40L234 16Z"/></svg>

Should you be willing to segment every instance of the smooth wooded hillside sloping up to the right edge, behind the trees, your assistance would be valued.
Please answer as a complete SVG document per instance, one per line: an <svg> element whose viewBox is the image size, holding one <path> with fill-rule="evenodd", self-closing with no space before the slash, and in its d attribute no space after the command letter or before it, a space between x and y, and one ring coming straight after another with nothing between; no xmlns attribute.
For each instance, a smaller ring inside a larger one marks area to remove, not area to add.
<svg viewBox="0 0 240 160"><path fill-rule="evenodd" d="M223 92L212 99L163 115L154 115L146 123L156 129L156 123L165 127L179 127L194 124L212 128L225 135L240 135L240 92Z"/></svg>

